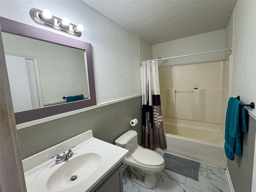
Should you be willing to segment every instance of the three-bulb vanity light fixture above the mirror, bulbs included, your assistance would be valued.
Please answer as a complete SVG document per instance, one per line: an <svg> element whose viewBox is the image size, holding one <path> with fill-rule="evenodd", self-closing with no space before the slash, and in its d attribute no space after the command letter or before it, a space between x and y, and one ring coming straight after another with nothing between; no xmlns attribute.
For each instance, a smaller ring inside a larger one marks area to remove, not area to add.
<svg viewBox="0 0 256 192"><path fill-rule="evenodd" d="M47 9L43 11L32 9L30 14L36 23L68 33L70 35L74 35L76 37L80 37L82 35L82 30L84 30L84 27L81 24L76 26L70 23L69 19L66 17L62 19L55 17Z"/></svg>

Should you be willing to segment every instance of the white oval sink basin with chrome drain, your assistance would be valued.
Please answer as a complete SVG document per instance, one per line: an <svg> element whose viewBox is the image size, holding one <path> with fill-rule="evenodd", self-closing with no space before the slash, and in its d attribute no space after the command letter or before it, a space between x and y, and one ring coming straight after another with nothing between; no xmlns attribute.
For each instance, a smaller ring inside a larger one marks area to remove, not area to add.
<svg viewBox="0 0 256 192"><path fill-rule="evenodd" d="M80 148L73 153L72 158L60 164L51 161L34 179L32 191L69 191L97 174L106 160L106 152L97 147Z"/></svg>

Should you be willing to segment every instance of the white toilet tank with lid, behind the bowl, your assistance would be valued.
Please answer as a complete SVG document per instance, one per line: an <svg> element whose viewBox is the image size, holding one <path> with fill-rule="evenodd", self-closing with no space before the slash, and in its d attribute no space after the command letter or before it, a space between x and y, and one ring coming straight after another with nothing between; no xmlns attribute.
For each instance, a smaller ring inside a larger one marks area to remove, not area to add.
<svg viewBox="0 0 256 192"><path fill-rule="evenodd" d="M129 130L115 140L116 146L126 148L130 152L138 147L137 132Z"/></svg>

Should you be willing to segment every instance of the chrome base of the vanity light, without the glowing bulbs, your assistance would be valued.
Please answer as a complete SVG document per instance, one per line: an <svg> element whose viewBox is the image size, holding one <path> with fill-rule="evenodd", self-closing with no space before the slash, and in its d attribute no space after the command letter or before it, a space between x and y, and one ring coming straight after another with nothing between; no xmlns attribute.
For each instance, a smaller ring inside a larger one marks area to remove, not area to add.
<svg viewBox="0 0 256 192"><path fill-rule="evenodd" d="M31 17L32 19L40 24L40 25L43 25L43 26L47 26L47 27L50 27L50 28L54 28L58 31L62 31L62 32L65 32L67 34L70 34L70 35L74 35L76 37L80 37L82 35L82 32L76 32L76 25L70 23L68 26L62 26L60 25L61 23L61 19L58 18L58 17L55 17L55 16L52 16L52 18L50 19L43 19L42 18L42 11L41 10L38 10L38 9L32 9L30 11L30 14L31 14Z"/></svg>

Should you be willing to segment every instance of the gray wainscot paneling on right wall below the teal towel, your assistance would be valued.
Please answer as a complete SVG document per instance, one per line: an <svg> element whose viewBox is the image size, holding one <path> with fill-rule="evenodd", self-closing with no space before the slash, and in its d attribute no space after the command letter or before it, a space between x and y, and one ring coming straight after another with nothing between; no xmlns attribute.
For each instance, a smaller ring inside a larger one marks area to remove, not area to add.
<svg viewBox="0 0 256 192"><path fill-rule="evenodd" d="M228 170L236 192L252 190L256 120L248 115L247 124L248 132L244 133L242 157L235 156L234 161L228 160Z"/></svg>

